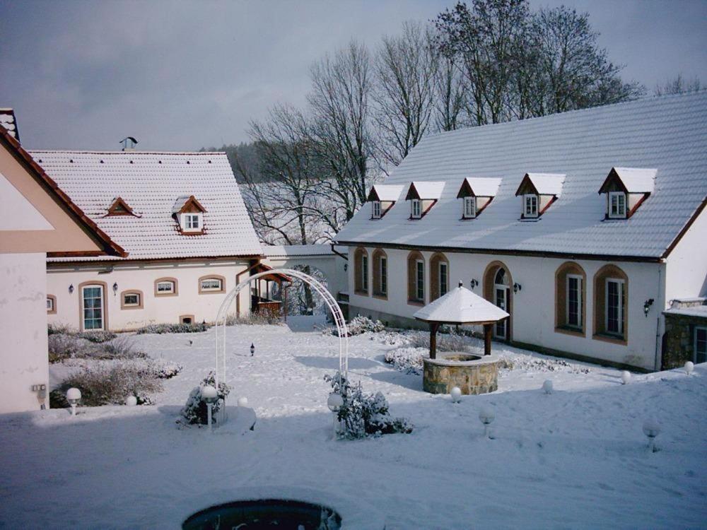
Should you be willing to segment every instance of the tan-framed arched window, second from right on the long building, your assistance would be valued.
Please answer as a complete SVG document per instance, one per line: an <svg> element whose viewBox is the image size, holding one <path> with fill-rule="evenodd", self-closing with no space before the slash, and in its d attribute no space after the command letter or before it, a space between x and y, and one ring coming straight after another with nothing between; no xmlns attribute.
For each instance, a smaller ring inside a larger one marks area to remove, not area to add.
<svg viewBox="0 0 707 530"><path fill-rule="evenodd" d="M555 272L555 330L584 335L587 274L573 261L561 264Z"/></svg>

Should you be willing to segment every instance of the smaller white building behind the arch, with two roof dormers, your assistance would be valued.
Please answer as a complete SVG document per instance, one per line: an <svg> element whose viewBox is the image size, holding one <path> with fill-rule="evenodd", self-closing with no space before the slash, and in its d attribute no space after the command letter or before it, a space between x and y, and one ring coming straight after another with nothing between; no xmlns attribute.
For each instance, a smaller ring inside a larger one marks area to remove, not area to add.
<svg viewBox="0 0 707 530"><path fill-rule="evenodd" d="M214 322L262 249L224 153L33 151L127 257L47 263L49 323L136 329ZM250 291L237 307L250 310Z"/></svg>

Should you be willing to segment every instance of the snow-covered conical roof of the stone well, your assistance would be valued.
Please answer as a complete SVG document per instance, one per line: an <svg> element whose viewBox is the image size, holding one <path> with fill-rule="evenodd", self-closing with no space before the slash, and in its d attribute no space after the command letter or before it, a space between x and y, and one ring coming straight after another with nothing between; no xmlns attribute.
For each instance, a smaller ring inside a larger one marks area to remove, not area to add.
<svg viewBox="0 0 707 530"><path fill-rule="evenodd" d="M510 315L501 307L460 285L446 295L429 303L413 315L425 322L446 322L448 324L481 324L497 322Z"/></svg>

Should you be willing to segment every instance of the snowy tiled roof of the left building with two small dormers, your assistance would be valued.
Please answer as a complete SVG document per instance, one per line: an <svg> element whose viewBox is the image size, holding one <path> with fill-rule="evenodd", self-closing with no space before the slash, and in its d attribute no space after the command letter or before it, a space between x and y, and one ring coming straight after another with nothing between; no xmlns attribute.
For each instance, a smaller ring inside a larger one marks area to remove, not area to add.
<svg viewBox="0 0 707 530"><path fill-rule="evenodd" d="M129 252L128 259L262 252L225 153L31 151L31 155L101 230ZM118 196L140 216L106 216ZM191 196L206 209L203 235L182 235L173 217L177 204L183 206Z"/></svg>

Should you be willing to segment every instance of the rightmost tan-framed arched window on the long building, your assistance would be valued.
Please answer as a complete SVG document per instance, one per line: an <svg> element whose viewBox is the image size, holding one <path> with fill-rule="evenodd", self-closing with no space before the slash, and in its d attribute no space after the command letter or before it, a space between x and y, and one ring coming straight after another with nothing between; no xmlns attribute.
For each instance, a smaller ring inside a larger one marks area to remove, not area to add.
<svg viewBox="0 0 707 530"><path fill-rule="evenodd" d="M594 276L594 336L628 341L629 276L616 265L604 265Z"/></svg>

